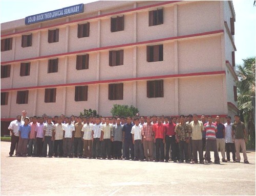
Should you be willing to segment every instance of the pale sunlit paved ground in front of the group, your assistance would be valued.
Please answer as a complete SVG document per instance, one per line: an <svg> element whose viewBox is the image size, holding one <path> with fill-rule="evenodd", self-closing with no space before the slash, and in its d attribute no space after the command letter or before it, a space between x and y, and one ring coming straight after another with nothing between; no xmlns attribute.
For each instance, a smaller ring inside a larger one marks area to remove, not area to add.
<svg viewBox="0 0 256 196"><path fill-rule="evenodd" d="M201 165L8 157L9 150L1 142L1 195L255 195L255 152L250 164Z"/></svg>

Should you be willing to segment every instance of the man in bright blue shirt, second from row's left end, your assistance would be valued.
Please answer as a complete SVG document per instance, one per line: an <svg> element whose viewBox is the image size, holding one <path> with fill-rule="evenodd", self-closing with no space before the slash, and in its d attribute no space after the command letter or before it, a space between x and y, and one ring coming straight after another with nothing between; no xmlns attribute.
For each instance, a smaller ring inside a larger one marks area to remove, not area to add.
<svg viewBox="0 0 256 196"><path fill-rule="evenodd" d="M23 156L27 157L28 153L28 141L30 136L31 127L29 125L29 118L26 117L24 120L24 125L19 127L19 141L17 148L17 157Z"/></svg>

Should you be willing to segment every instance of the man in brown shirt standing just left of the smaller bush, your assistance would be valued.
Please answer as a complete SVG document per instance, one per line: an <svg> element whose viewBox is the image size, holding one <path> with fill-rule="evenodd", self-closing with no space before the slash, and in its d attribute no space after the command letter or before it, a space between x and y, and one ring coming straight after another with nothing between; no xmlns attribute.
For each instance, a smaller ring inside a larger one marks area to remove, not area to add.
<svg viewBox="0 0 256 196"><path fill-rule="evenodd" d="M75 123L75 136L74 136L74 157L78 156L79 148L79 158L82 158L83 154L83 140L82 140L82 118L77 117L77 123Z"/></svg>

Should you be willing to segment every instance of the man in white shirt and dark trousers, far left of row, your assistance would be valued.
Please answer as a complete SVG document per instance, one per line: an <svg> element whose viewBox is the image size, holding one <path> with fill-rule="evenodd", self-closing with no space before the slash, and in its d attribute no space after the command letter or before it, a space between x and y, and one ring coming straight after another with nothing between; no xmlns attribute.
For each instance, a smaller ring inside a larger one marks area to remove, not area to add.
<svg viewBox="0 0 256 196"><path fill-rule="evenodd" d="M17 115L16 120L11 121L10 126L8 129L11 132L11 148L10 148L10 157L12 157L16 144L18 144L18 139L19 139L19 127L24 124L24 121L22 121L22 116Z"/></svg>

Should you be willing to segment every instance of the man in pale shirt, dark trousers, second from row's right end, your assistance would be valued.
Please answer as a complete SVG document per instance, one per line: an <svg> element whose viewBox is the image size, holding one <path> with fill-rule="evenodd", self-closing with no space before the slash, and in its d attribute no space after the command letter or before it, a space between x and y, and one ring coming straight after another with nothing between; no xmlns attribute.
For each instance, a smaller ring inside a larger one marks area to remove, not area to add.
<svg viewBox="0 0 256 196"><path fill-rule="evenodd" d="M227 155L227 160L230 161L230 152L232 152L232 159L233 162L236 162L236 148L234 146L233 142L233 137L232 137L232 122L231 122L231 117L227 116L226 117L226 123L224 124L225 126L225 144L226 144L226 155Z"/></svg>

